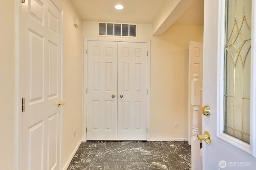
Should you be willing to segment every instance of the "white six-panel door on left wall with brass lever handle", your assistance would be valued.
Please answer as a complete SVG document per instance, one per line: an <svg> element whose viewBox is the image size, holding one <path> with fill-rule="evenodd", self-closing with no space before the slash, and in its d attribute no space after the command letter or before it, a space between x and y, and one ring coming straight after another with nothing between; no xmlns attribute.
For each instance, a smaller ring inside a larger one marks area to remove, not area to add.
<svg viewBox="0 0 256 170"><path fill-rule="evenodd" d="M20 9L20 169L60 170L62 12L51 0Z"/></svg>

